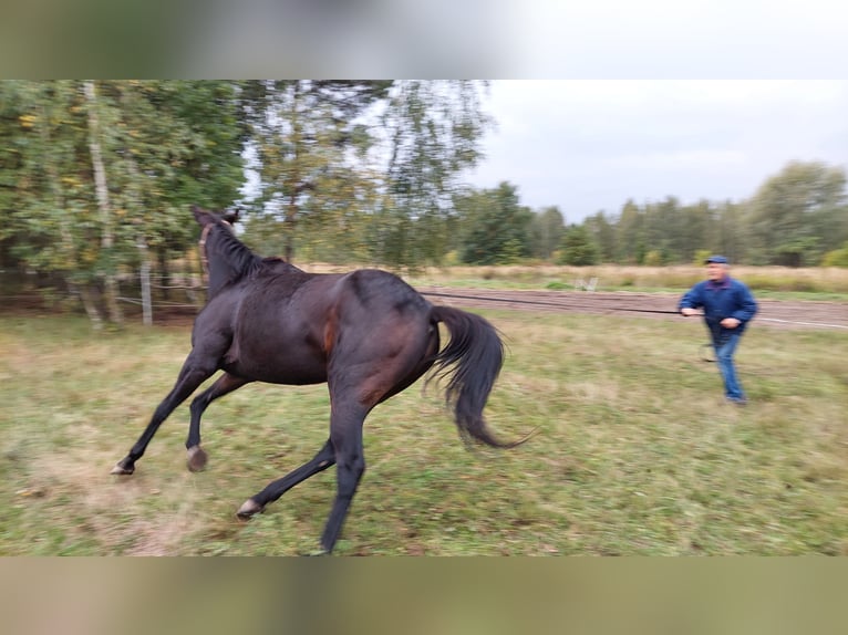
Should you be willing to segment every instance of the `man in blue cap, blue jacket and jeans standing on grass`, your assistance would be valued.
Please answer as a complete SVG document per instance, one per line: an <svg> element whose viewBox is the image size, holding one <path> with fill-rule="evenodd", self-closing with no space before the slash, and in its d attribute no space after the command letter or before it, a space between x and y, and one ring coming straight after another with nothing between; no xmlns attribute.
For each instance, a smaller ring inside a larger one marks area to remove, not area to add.
<svg viewBox="0 0 848 635"><path fill-rule="evenodd" d="M724 256L706 259L706 278L683 295L678 309L685 318L700 315L697 310L703 309L724 379L724 396L728 402L744 406L747 399L736 378L733 354L745 326L757 312L757 303L743 282L730 277L730 266Z"/></svg>

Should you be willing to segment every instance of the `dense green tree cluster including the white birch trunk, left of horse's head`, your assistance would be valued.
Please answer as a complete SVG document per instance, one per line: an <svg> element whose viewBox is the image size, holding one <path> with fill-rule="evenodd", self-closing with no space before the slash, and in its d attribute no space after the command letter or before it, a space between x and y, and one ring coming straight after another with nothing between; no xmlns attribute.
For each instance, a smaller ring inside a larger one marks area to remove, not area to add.
<svg viewBox="0 0 848 635"><path fill-rule="evenodd" d="M3 82L2 251L121 320L116 275L195 235L188 202L232 202L241 174L226 82ZM236 176L236 178L234 178ZM165 246L165 247L163 247Z"/></svg>

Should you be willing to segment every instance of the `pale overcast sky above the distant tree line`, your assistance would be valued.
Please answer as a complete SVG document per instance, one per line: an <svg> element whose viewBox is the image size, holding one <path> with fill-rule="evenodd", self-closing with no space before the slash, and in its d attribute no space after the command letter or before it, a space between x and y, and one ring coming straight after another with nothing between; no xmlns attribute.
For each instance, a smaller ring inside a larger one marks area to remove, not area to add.
<svg viewBox="0 0 848 635"><path fill-rule="evenodd" d="M676 196L741 200L790 160L848 169L846 81L494 81L470 175L567 222Z"/></svg>

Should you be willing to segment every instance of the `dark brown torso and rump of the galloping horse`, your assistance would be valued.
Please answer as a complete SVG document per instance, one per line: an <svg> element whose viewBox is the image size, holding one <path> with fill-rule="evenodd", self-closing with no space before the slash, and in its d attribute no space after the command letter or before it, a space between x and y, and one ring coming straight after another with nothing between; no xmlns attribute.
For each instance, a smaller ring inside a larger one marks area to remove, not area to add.
<svg viewBox="0 0 848 635"><path fill-rule="evenodd" d="M430 302L379 269L318 274L276 264L216 302L232 310L224 369L260 382L322 383L333 367L432 347Z"/></svg>

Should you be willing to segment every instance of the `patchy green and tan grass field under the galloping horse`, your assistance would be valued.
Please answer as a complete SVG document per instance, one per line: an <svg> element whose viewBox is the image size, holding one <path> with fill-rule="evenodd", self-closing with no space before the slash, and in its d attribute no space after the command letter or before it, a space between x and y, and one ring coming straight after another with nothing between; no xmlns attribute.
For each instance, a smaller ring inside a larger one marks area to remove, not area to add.
<svg viewBox="0 0 848 635"><path fill-rule="evenodd" d="M509 355L487 416L509 451L468 452L422 383L365 424L368 470L340 554L848 555L848 334L754 325L721 399L702 325L485 312ZM324 386L251 385L187 406L132 477L110 476L170 388L185 327L94 335L79 318L0 318L0 555L313 551L334 470L247 523L235 510L327 437Z"/></svg>

